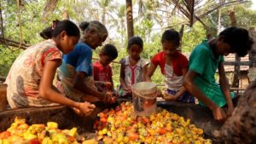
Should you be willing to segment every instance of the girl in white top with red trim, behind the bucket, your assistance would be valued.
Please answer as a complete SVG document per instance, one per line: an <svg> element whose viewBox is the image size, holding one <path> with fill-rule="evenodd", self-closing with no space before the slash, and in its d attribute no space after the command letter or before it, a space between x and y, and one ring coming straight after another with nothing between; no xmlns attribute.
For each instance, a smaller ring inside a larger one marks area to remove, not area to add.
<svg viewBox="0 0 256 144"><path fill-rule="evenodd" d="M148 69L148 61L141 58L143 40L141 37L131 37L128 41L128 54L120 60L120 95L131 95L131 85L143 82Z"/></svg>

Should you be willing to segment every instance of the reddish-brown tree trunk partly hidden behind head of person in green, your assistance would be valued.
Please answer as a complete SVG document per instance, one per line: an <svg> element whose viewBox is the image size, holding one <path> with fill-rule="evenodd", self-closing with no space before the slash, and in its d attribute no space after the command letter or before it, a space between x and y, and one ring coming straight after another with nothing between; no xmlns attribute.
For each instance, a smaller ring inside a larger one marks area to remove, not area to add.
<svg viewBox="0 0 256 144"><path fill-rule="evenodd" d="M231 20L231 26L235 27L236 26L236 15L233 9L230 10L230 20ZM240 57L236 55L236 61L241 61ZM234 67L234 78L233 78L233 83L231 84L231 87L238 88L239 87L239 77L240 77L240 66L235 65Z"/></svg>

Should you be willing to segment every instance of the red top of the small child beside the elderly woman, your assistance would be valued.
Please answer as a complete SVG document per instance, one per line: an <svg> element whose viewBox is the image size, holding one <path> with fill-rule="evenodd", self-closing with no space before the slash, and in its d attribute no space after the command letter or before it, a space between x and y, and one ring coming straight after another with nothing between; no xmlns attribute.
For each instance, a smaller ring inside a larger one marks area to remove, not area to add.
<svg viewBox="0 0 256 144"><path fill-rule="evenodd" d="M102 66L100 61L93 63L93 77L95 81L110 82L112 77L111 66Z"/></svg>

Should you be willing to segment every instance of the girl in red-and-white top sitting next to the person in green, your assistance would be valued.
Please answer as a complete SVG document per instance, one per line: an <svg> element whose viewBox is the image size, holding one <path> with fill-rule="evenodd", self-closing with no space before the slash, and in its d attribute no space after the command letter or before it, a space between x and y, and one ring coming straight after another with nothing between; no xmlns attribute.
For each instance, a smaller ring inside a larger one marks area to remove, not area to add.
<svg viewBox="0 0 256 144"><path fill-rule="evenodd" d="M189 95L183 87L183 79L188 72L189 60L177 51L180 45L179 33L175 30L166 30L161 37L163 50L154 55L146 74L146 81L151 82L157 66L165 76L166 92L163 97L166 101L195 103L195 97Z"/></svg>

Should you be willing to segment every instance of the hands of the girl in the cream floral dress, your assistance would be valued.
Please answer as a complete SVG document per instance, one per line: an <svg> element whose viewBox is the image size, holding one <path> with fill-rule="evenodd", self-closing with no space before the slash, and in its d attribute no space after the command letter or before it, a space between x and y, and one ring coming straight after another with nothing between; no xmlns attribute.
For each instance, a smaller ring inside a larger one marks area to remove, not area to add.
<svg viewBox="0 0 256 144"><path fill-rule="evenodd" d="M93 112L95 105L90 104L90 102L84 101L79 102L79 107L73 107L74 112L76 112L79 116L89 116L91 112Z"/></svg>

